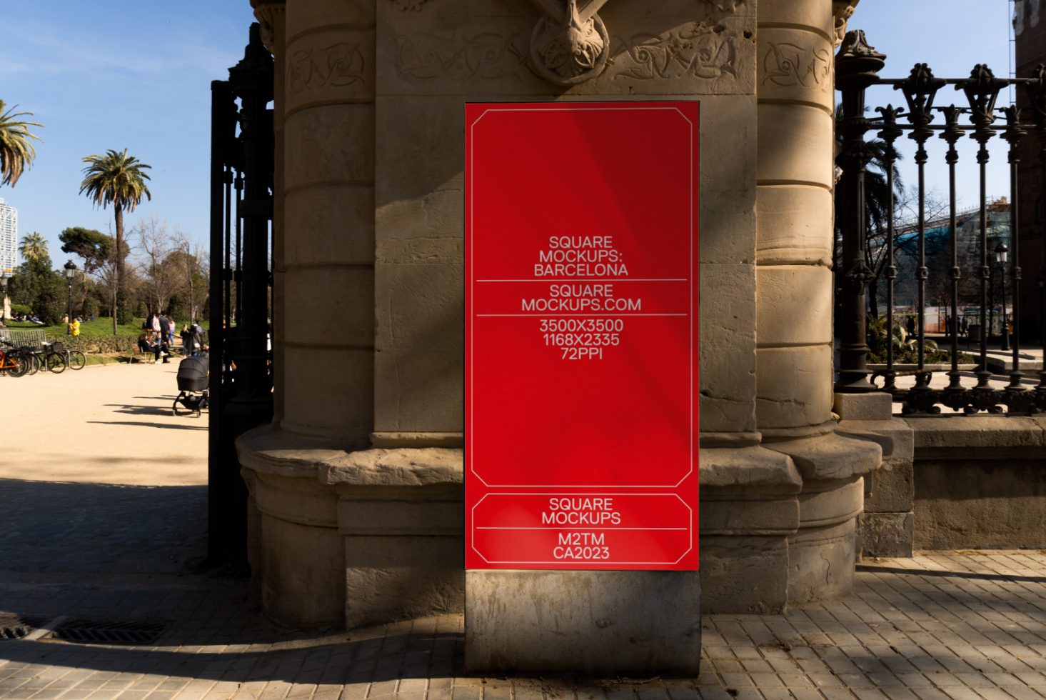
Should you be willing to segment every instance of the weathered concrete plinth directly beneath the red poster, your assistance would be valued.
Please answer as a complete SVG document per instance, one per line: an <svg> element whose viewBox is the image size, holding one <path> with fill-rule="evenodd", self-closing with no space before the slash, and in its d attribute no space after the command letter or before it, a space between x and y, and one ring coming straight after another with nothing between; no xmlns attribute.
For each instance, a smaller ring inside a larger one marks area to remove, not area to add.
<svg viewBox="0 0 1046 700"><path fill-rule="evenodd" d="M697 571L468 571L467 673L697 675Z"/></svg>

